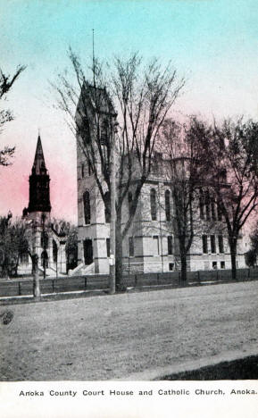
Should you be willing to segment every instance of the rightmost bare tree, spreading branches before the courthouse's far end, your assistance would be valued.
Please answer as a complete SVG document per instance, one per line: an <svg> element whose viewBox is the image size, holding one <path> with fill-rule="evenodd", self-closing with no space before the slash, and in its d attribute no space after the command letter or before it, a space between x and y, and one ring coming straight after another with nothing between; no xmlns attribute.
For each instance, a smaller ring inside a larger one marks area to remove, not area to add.
<svg viewBox="0 0 258 418"><path fill-rule="evenodd" d="M208 126L195 120L193 134L202 144L206 182L217 197L226 223L232 279L237 278L237 239L258 204L258 123L226 120Z"/></svg>

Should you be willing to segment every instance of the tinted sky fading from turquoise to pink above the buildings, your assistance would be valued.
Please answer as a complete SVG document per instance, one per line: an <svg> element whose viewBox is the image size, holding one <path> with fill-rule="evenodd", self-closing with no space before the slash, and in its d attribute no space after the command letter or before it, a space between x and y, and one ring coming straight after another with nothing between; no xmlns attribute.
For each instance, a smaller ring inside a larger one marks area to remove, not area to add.
<svg viewBox="0 0 258 418"><path fill-rule="evenodd" d="M11 167L0 168L0 188L8 185L0 213L19 214L28 205L40 128L53 213L76 220L75 141L52 108L48 79L68 65L69 45L90 57L93 28L100 59L131 51L171 59L187 77L179 112L257 119L257 0L0 0L0 66L12 72L27 65L8 97L15 121L1 135L16 155Z"/></svg>

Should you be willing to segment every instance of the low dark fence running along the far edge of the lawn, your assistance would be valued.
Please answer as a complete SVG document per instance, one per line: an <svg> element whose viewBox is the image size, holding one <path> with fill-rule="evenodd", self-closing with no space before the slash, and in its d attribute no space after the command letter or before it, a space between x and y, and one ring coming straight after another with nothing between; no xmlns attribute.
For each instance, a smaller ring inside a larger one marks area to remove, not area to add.
<svg viewBox="0 0 258 418"><path fill-rule="evenodd" d="M258 279L258 269L237 270L237 280L255 279ZM230 270L187 272L187 281L180 280L180 272L152 272L142 274L131 274L125 275L122 278L122 283L127 288L142 288L149 286L181 287L221 281L231 281ZM42 294L72 292L79 290L107 290L108 288L108 275L40 279L40 291ZM12 297L32 294L32 279L14 279L0 281L0 297Z"/></svg>

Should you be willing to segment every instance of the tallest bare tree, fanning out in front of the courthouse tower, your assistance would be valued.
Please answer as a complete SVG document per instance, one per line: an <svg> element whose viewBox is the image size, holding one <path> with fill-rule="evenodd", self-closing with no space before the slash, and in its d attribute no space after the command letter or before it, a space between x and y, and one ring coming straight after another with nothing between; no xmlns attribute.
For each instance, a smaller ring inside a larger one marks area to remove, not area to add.
<svg viewBox="0 0 258 418"><path fill-rule="evenodd" d="M154 147L162 122L179 96L185 81L171 64L157 61L144 66L137 54L128 60L115 58L104 73L94 60L93 85L76 54L69 54L75 85L66 76L54 86L58 106L70 116L71 129L94 174L97 187L110 213L111 138L116 137L116 277L121 282L122 240L129 231L137 202L153 161ZM77 106L76 117L74 108ZM129 217L122 220L122 207L131 194Z"/></svg>

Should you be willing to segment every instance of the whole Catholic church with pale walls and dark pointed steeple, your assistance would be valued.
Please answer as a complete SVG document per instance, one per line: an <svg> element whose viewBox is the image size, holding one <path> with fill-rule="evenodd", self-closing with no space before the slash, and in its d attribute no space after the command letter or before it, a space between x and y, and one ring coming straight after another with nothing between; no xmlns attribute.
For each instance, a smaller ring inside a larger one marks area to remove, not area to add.
<svg viewBox="0 0 258 418"><path fill-rule="evenodd" d="M22 218L27 224L30 252L37 255L39 271L46 272L46 275L66 272L66 238L54 229L50 213L50 177L38 135L34 163L29 175L29 206L23 209ZM19 273L30 273L31 269L29 255L22 255Z"/></svg>

